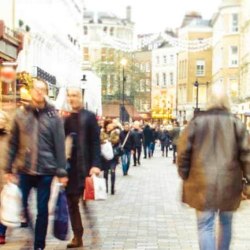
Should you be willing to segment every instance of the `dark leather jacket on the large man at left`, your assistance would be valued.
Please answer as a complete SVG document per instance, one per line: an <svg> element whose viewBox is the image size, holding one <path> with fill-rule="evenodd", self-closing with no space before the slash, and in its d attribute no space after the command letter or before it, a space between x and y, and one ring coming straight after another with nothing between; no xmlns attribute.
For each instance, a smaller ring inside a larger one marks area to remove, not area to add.
<svg viewBox="0 0 250 250"><path fill-rule="evenodd" d="M67 175L63 122L53 106L42 110L25 106L14 118L6 172Z"/></svg>

